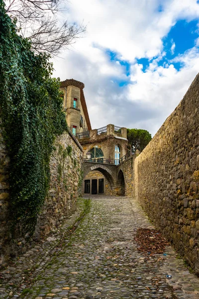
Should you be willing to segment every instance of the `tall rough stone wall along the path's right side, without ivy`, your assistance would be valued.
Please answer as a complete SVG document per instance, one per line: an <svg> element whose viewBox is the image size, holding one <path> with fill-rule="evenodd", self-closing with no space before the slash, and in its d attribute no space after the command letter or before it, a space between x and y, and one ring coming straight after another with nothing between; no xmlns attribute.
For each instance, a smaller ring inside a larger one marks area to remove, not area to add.
<svg viewBox="0 0 199 299"><path fill-rule="evenodd" d="M199 75L134 169L136 199L199 274Z"/></svg>

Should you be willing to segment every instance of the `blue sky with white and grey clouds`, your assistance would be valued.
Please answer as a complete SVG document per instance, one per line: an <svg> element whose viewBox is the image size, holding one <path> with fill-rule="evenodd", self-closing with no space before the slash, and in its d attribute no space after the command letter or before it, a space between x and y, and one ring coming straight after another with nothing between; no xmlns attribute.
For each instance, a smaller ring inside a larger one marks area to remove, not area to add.
<svg viewBox="0 0 199 299"><path fill-rule="evenodd" d="M199 72L199 0L70 0L83 38L54 60L54 76L85 83L92 128L154 135Z"/></svg>

